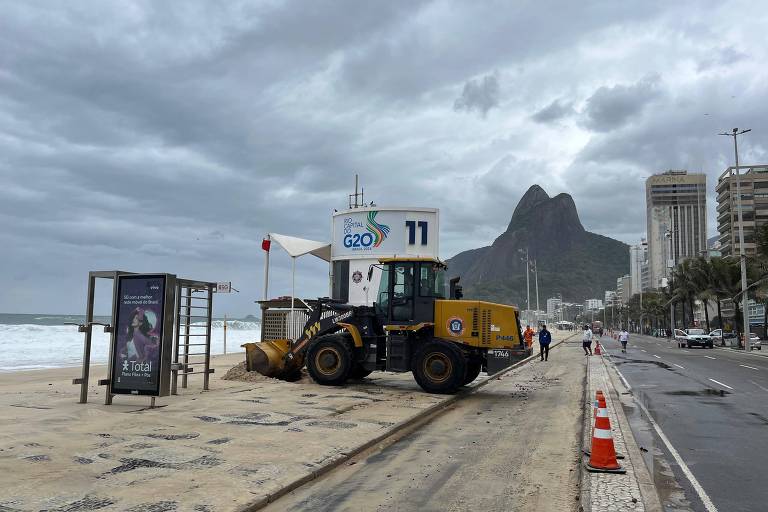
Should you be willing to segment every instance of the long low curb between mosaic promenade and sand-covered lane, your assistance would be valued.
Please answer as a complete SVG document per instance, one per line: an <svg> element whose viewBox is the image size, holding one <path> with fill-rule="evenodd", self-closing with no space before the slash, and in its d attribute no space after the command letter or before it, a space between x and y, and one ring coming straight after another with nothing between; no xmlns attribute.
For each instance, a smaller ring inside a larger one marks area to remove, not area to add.
<svg viewBox="0 0 768 512"><path fill-rule="evenodd" d="M551 348L553 349L553 348L555 348L555 347L565 343L566 341L568 341L571 338L573 338L574 336L576 336L576 334L577 333L573 333L570 336L568 336L568 337L566 337L566 338L564 338L564 339L562 339L562 340L560 340L558 342L553 343ZM418 426L419 423L426 423L428 421L431 421L432 419L434 419L435 416L439 415L441 412L446 410L449 406L453 405L454 403L456 403L457 401L461 400L462 398L465 398L465 397L467 397L469 395L472 395L473 393L475 393L479 389L482 389L485 386L487 386L488 384L490 384L491 382L497 380L499 377L502 377L502 376L504 376L504 375L506 375L506 374L508 374L508 373L510 373L510 372L512 372L514 370L516 370L517 368L520 368L521 366L524 366L524 365L530 363L531 361L533 361L534 359L536 359L538 357L539 357L538 354L532 353L527 358L523 359L522 361L518 361L517 363L513 364L509 368L505 368L504 370L501 370L500 372L496 372L493 375L489 375L488 377L486 377L485 379L481 380L480 382L478 382L474 386L468 387L466 390L460 391L460 392L456 393L455 395L447 396L445 398L445 400L442 400L442 401L440 401L440 402L438 402L438 403L436 403L434 405L431 405L431 406L427 407L426 409L424 409L423 411L420 411L420 412L416 413L414 416L408 418L407 420L401 421L400 423L389 427L382 434L374 437L373 439L370 439L370 440L366 441L365 443L363 443L363 444L361 444L359 446L356 446L355 448L349 450L348 452L345 452L345 453L341 454L340 457L331 460L330 462L328 462L327 464L324 464L323 466L320 466L319 468L315 469L311 473L309 473L307 475L304 475L304 476L302 476L300 478L297 478L297 479L287 483L286 485L284 485L280 489L267 494L267 496L265 496L265 497L259 498L256 501L253 501L251 503L243 505L242 507L237 509L238 512L254 512L254 511L263 509L267 505L277 501L278 499L280 499L281 497L285 496L286 494L295 491L299 487L301 487L301 486L303 486L303 485L305 485L305 484L307 484L307 483L309 483L309 482L311 482L311 481L313 481L313 480L315 480L317 478L320 478L321 476L325 475L329 471L332 471L333 469L339 467L340 465L348 462L350 459L352 459L352 458L356 457L357 455L365 452L366 450L372 448L373 446L375 446L375 445L377 445L379 443L382 443L382 442L384 442L384 441L386 441L386 440L388 440L390 438L393 438L393 437L397 436L399 433L403 432L404 430L407 430L408 428Z"/></svg>

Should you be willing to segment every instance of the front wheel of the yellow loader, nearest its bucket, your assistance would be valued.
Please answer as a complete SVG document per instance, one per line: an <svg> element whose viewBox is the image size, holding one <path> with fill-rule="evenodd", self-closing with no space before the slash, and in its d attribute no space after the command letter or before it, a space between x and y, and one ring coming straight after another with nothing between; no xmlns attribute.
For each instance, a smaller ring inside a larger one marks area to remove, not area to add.
<svg viewBox="0 0 768 512"><path fill-rule="evenodd" d="M324 386L341 386L352 372L352 347L344 336L319 336L307 349L307 371Z"/></svg>

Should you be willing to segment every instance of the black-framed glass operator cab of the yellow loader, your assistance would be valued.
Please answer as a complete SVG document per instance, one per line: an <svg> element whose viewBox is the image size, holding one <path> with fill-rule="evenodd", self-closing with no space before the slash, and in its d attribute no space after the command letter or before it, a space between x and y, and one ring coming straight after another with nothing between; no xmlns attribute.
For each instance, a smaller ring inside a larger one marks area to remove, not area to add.
<svg viewBox="0 0 768 512"><path fill-rule="evenodd" d="M381 260L376 313L384 324L433 322L435 299L446 298L445 264L431 258Z"/></svg>

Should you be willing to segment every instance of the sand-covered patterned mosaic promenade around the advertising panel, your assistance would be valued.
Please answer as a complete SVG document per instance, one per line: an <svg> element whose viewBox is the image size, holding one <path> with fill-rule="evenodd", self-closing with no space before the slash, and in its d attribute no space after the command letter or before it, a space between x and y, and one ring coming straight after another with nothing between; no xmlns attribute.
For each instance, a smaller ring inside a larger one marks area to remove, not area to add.
<svg viewBox="0 0 768 512"><path fill-rule="evenodd" d="M236 510L445 398L410 373L343 388L222 380L242 359L215 357L210 391L190 377L156 409L105 406L96 385L78 404L79 368L0 375L0 509ZM92 367L92 383L105 376Z"/></svg>

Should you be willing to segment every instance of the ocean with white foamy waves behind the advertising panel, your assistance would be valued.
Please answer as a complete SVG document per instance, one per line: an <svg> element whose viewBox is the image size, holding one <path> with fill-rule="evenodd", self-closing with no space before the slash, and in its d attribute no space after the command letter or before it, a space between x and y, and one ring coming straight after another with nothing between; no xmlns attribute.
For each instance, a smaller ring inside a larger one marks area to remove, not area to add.
<svg viewBox="0 0 768 512"><path fill-rule="evenodd" d="M82 315L5 314L0 313L0 372L39 370L79 366L83 361L85 334L77 325L85 321ZM94 317L108 323L109 317ZM91 363L106 363L109 357L109 333L93 326ZM242 352L240 345L259 341L258 321L227 320L227 353ZM224 321L211 324L211 354L224 353Z"/></svg>

